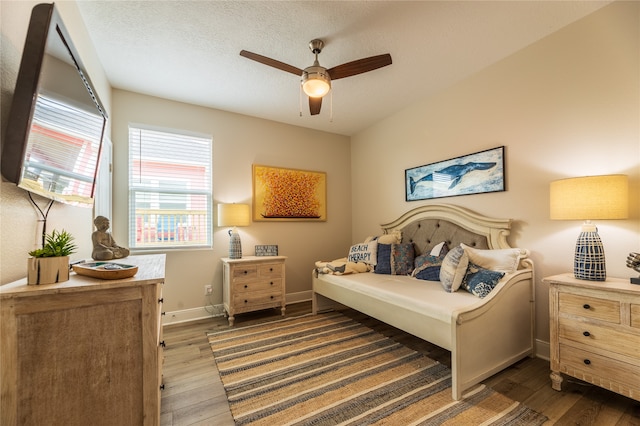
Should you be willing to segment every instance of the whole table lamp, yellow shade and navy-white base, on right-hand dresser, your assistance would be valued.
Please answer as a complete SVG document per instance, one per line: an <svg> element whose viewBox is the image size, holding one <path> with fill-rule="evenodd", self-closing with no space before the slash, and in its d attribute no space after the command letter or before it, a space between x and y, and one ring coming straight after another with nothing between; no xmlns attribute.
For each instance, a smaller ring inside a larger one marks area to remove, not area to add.
<svg viewBox="0 0 640 426"><path fill-rule="evenodd" d="M626 219L629 215L629 181L626 175L585 176L551 182L552 220L584 220L576 242L573 272L576 278L607 278L604 247L591 220Z"/></svg>

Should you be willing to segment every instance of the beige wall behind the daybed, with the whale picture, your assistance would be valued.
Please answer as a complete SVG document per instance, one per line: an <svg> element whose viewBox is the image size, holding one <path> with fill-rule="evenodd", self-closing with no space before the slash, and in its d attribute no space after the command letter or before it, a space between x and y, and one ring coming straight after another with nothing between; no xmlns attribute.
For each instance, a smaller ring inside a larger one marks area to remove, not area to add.
<svg viewBox="0 0 640 426"><path fill-rule="evenodd" d="M640 250L639 21L640 3L614 3L354 136L354 241L422 204L515 219L510 242L532 252L537 336L548 341L541 279L572 271L580 232L580 222L549 220L549 182L630 176L630 219L597 225L608 274L633 275L625 258ZM405 169L500 145L506 192L405 202Z"/></svg>

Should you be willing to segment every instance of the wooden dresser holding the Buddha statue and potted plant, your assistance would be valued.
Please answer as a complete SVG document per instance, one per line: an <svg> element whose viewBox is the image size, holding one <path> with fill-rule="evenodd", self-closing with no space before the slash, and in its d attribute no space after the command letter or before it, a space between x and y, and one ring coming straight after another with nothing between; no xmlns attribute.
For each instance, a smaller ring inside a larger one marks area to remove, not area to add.
<svg viewBox="0 0 640 426"><path fill-rule="evenodd" d="M138 272L0 286L0 424L160 424L165 255L116 262Z"/></svg>

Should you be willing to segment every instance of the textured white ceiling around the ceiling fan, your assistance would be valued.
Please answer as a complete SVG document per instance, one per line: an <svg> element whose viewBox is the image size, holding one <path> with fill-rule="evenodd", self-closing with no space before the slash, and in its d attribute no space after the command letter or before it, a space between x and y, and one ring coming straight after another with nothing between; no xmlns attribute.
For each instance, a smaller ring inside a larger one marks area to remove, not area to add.
<svg viewBox="0 0 640 426"><path fill-rule="evenodd" d="M115 88L352 135L608 3L80 0L78 7ZM305 68L314 38L325 41L319 61L327 68L383 53L393 64L334 81L320 115L309 116L299 78L239 55L245 49Z"/></svg>

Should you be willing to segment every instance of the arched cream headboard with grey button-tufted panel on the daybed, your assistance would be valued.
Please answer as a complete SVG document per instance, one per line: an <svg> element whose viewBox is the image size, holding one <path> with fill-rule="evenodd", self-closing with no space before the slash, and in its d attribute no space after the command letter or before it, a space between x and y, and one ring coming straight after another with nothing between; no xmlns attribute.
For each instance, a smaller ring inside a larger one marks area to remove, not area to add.
<svg viewBox="0 0 640 426"><path fill-rule="evenodd" d="M417 207L381 227L385 234L401 230L402 242L413 243L416 255L442 241L449 248L460 243L480 249L511 248L507 242L511 219L494 219L448 204Z"/></svg>

